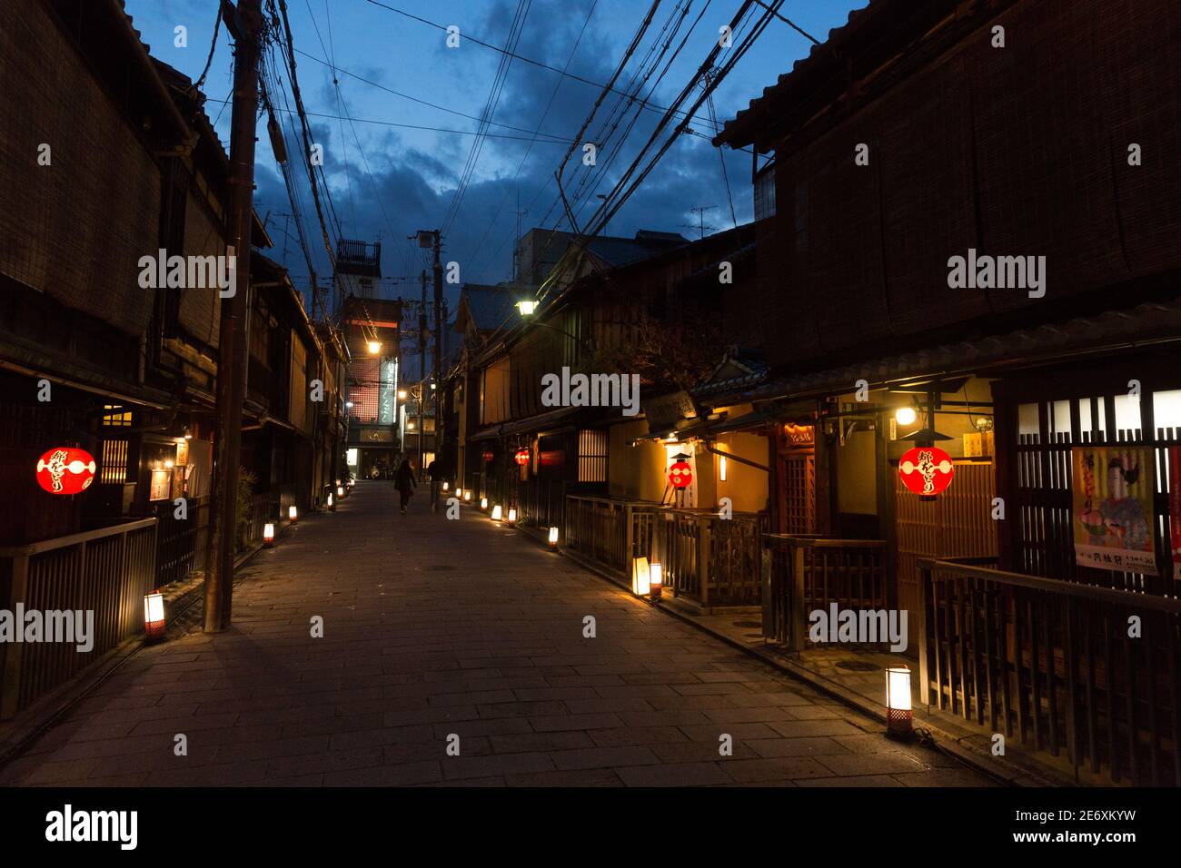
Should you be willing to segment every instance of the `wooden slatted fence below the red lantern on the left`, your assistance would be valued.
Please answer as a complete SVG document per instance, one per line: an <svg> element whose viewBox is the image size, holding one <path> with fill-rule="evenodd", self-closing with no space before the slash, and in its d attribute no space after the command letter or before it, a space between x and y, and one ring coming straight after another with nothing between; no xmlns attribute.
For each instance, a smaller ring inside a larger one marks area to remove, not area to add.
<svg viewBox="0 0 1181 868"><path fill-rule="evenodd" d="M0 549L0 602L15 613L93 612L93 647L0 644L0 718L9 718L144 628L156 587L156 518ZM17 625L24 629L24 625Z"/></svg>

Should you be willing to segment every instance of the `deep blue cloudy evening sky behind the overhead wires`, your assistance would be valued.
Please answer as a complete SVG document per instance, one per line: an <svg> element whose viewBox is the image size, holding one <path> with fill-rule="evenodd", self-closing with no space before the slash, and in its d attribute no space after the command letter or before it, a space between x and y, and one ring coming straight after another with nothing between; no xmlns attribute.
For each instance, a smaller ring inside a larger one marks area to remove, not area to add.
<svg viewBox="0 0 1181 868"><path fill-rule="evenodd" d="M342 234L366 241L380 237L383 274L392 283L396 278L417 274L422 267L419 254L410 248L406 236L416 229L437 228L443 223L476 141L471 135L411 126L477 129L477 120L463 115L478 118L484 111L502 56L463 39L463 34L503 46L517 0L383 1L444 26L457 25L461 46L448 48L444 32L367 0L287 0L287 6L295 47L306 52L298 54L296 61L308 112L348 115L353 119L351 125L337 117L312 118L313 135L324 144L325 171ZM740 0L691 2L686 28L703 6L706 11L652 97L660 105L668 105L685 86L717 39L718 27L740 6ZM522 0L522 4L527 7L527 17L516 53L559 68L569 63L570 73L595 83L608 80L650 7L648 0ZM861 6L864 6L863 0L800 0L784 4L782 11L823 41L830 28L847 20L850 8ZM205 64L216 7L216 0L126 0L128 12L151 53L194 79ZM660 5L653 26L621 80L638 66L638 60L655 41L658 31L676 7L677 0L664 0ZM592 14L587 22L588 13ZM583 22L587 22L586 30L579 40ZM188 28L188 47L174 45L177 25ZM576 40L578 50L572 59ZM715 94L718 120L733 117L809 48L810 43L804 37L782 21L772 21ZM340 70L339 87L333 85L329 63ZM286 80L286 73L283 78ZM204 91L210 98L207 110L216 118L217 131L227 146L230 112L228 107L222 111L223 104L215 100L228 99L230 83L231 52L222 27ZM490 128L491 132L504 137L484 141L444 241L444 259L459 262L463 281L490 283L511 276L517 196L520 210L527 211L521 216L522 230L539 224L554 227L560 220L560 228L568 228L560 204L544 216L557 197L554 170L566 152L566 142L578 132L599 92L588 84L563 79L557 72L513 60L492 115L500 125ZM603 110L590 126L592 132L614 102L614 96L605 100ZM706 115L704 106L699 115ZM586 190L588 205L580 211L580 221L586 221L598 204L594 194L611 189L621 168L631 163L658 118L655 112L641 112L639 123L619 146L613 168L598 188ZM694 123L693 128L710 131L707 120ZM530 142L539 129L542 136L565 142L546 138ZM296 285L306 286L307 269L295 228L288 218L279 216L291 213L292 208L263 123L259 131L255 207L260 215L269 215L275 259L285 256L287 234L286 262ZM583 139L593 138L593 135L583 136ZM752 218L750 155L729 150L723 154L738 222L746 222ZM588 171L580 156L581 151L576 152L567 165L567 185L572 178L576 184ZM600 164L609 156L611 149L600 152ZM319 241L320 229L306 175L296 175L296 181L302 200L300 207L307 215L305 231L313 259L318 272L327 275L331 269ZM716 205L706 211L707 226L730 228L730 207L718 150L706 138L684 136L614 217L606 234L627 236L638 228L647 228L696 237L696 229L689 224L696 224L698 217L691 209L702 205ZM417 288L406 287L405 294L417 294Z"/></svg>

